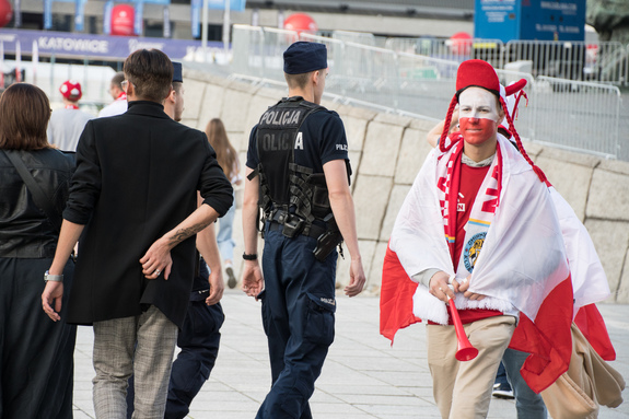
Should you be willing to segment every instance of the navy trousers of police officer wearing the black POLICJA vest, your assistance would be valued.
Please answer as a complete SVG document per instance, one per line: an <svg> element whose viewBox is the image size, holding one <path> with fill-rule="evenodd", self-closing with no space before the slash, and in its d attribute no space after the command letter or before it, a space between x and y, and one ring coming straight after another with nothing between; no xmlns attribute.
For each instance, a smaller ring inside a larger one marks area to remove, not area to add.
<svg viewBox="0 0 629 419"><path fill-rule="evenodd" d="M289 238L281 230L265 235L263 324L268 337L272 386L256 418L312 418L314 393L334 340L337 253L318 261L316 240Z"/></svg>

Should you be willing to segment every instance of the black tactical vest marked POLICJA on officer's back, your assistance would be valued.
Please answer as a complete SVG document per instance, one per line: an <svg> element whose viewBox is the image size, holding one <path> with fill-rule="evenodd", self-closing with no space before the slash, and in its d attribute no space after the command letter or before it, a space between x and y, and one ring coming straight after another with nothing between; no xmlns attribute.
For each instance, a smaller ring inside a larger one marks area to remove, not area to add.
<svg viewBox="0 0 629 419"><path fill-rule="evenodd" d="M308 115L323 106L291 97L278 102L259 120L256 148L259 165L252 174L260 177L263 220L287 222L287 214L299 219L296 234L311 234L314 220L328 221L331 216L325 175L295 163L298 132ZM301 136L299 136L301 138ZM288 235L288 234L287 234Z"/></svg>

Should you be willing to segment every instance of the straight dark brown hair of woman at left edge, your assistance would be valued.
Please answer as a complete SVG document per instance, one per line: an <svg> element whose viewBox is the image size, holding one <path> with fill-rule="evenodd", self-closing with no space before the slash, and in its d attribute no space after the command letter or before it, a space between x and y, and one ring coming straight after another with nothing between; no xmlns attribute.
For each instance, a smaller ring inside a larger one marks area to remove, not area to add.
<svg viewBox="0 0 629 419"><path fill-rule="evenodd" d="M46 128L50 102L33 84L11 84L0 96L0 149L39 150L50 147Z"/></svg>

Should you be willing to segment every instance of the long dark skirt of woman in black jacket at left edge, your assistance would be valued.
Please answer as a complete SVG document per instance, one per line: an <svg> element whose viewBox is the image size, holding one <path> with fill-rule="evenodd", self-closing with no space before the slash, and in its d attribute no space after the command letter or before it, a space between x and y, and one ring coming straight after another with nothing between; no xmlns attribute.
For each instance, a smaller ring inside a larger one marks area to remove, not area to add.
<svg viewBox="0 0 629 419"><path fill-rule="evenodd" d="M61 321L42 310L51 258L0 258L0 418L72 418L77 326L66 323L74 263L63 269Z"/></svg>

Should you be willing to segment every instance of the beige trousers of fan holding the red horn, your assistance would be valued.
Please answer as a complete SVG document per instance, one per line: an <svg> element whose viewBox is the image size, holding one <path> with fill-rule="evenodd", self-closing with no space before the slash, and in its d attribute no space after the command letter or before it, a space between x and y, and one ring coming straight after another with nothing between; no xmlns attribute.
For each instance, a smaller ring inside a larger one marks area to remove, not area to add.
<svg viewBox="0 0 629 419"><path fill-rule="evenodd" d="M511 341L515 317L489 317L464 325L464 329L478 356L459 362L454 358L458 349L454 326L426 327L433 395L443 419L487 417L498 365Z"/></svg>

